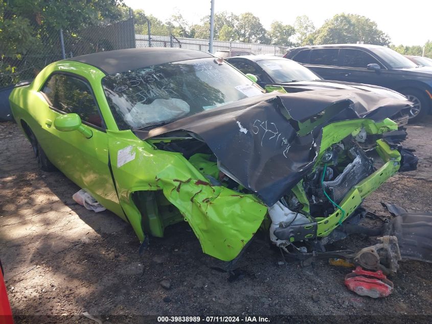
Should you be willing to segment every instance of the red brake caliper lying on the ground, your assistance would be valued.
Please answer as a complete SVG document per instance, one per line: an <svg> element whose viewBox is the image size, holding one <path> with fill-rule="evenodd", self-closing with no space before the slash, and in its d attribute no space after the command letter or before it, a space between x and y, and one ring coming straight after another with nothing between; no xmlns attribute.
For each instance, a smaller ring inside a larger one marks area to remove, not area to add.
<svg viewBox="0 0 432 324"><path fill-rule="evenodd" d="M393 291L393 283L382 271L367 271L361 267L345 276L345 286L358 295L372 298L387 297Z"/></svg>

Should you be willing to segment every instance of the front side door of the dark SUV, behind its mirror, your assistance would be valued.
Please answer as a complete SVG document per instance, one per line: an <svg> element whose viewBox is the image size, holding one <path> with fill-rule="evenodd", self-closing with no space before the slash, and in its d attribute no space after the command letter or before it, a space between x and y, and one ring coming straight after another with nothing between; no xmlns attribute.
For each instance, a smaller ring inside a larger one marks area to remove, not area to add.
<svg viewBox="0 0 432 324"><path fill-rule="evenodd" d="M386 69L384 65L370 53L362 49L340 50L339 80L347 82L367 83L383 85ZM368 70L368 64L378 64L381 70L378 72Z"/></svg>

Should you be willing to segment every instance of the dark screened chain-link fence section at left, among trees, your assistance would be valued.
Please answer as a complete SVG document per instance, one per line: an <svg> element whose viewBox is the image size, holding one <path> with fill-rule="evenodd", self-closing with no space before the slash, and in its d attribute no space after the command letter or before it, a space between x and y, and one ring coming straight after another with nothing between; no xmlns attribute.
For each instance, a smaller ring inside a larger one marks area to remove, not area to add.
<svg viewBox="0 0 432 324"><path fill-rule="evenodd" d="M117 23L69 32L48 28L38 16L29 21L0 11L0 89L34 78L54 61L134 47L132 15Z"/></svg>

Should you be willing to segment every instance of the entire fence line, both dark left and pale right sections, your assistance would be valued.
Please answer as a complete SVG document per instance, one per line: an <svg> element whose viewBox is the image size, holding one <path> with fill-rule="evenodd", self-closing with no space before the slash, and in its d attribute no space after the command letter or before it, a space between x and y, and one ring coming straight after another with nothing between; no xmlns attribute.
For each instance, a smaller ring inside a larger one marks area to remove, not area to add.
<svg viewBox="0 0 432 324"><path fill-rule="evenodd" d="M78 32L52 29L36 15L28 20L0 7L0 89L34 78L44 67L64 58L126 48L175 47L208 52L209 39L173 35L141 35L134 32L134 19L92 26ZM6 32L5 32L6 31ZM232 41L213 42L221 57L248 54L282 56L287 48Z"/></svg>

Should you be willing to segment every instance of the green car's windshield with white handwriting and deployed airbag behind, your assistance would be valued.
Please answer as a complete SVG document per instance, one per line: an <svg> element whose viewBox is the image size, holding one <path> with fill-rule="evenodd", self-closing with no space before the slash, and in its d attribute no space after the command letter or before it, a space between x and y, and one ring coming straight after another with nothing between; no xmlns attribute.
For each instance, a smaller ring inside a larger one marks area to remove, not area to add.
<svg viewBox="0 0 432 324"><path fill-rule="evenodd" d="M213 57L108 75L102 86L119 129L166 124L264 92Z"/></svg>

